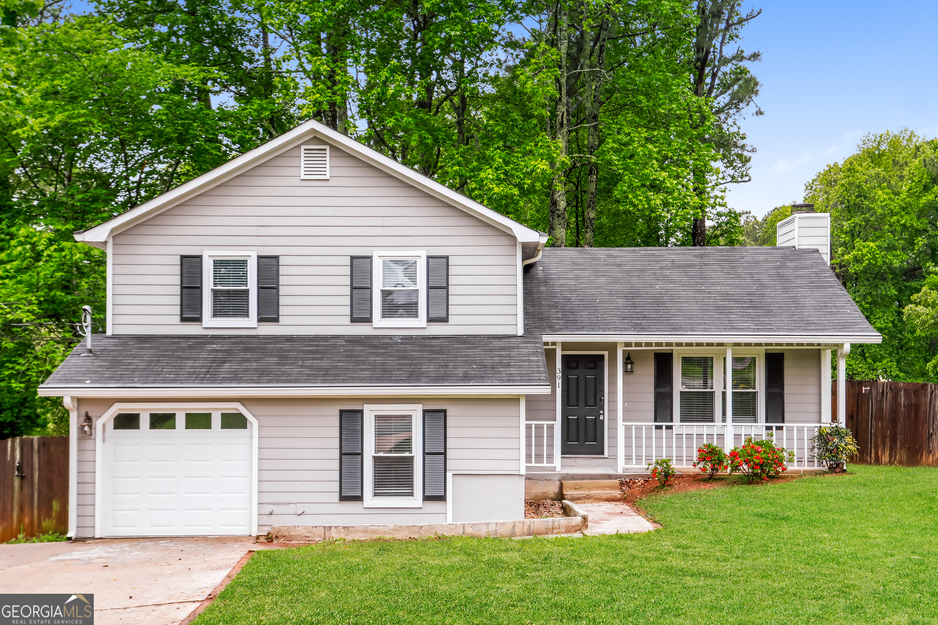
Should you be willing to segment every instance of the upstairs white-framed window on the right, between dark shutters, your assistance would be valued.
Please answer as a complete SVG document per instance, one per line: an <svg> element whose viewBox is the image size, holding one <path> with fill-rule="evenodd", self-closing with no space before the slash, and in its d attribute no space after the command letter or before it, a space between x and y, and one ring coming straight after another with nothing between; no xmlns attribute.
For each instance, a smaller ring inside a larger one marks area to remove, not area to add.
<svg viewBox="0 0 938 625"><path fill-rule="evenodd" d="M372 258L374 327L427 326L427 253L375 252Z"/></svg>

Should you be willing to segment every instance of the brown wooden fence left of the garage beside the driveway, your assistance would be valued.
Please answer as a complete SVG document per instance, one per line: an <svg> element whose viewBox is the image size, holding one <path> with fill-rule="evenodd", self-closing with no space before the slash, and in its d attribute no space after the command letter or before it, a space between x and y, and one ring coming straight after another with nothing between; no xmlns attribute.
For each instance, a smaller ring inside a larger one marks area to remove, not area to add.
<svg viewBox="0 0 938 625"><path fill-rule="evenodd" d="M0 440L0 543L68 531L68 437Z"/></svg>

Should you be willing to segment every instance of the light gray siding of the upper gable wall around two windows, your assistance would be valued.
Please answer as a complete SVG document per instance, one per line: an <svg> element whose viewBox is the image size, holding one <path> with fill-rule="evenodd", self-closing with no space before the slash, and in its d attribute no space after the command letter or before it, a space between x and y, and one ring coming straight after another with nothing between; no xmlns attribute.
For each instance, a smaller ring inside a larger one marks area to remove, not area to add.
<svg viewBox="0 0 938 625"><path fill-rule="evenodd" d="M114 235L113 334L218 334L179 321L179 256L206 249L280 256L280 322L238 334L516 334L511 234L335 146L329 180L300 180L300 144L322 141L297 141ZM349 321L349 257L377 250L449 257L448 323L401 330Z"/></svg>

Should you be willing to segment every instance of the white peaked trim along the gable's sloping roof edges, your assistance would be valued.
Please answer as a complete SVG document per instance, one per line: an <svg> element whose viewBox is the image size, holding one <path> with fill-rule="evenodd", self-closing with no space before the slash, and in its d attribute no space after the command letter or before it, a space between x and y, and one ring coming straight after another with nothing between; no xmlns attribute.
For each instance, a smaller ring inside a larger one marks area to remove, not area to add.
<svg viewBox="0 0 938 625"><path fill-rule="evenodd" d="M446 201L457 208L477 216L479 219L492 224L502 231L510 232L522 243L533 243L539 241L539 233L527 226L523 226L517 221L508 218L500 213L496 213L491 208L484 206L477 201L470 200L461 193L458 193L445 185L431 180L421 173L411 170L409 167L401 165L393 158L372 150L358 141L346 137L340 132L333 130L325 124L321 124L314 119L310 119L289 132L285 132L280 137L267 141L250 152L241 156L236 156L227 163L219 165L212 171L206 171L201 176L189 180L183 185L167 191L154 198L136 206L126 213L115 216L94 228L85 231L75 232L75 240L88 244L89 246L105 249L107 240L117 232L127 230L151 216L168 210L179 202L189 200L189 198L203 193L213 186L217 186L226 180L233 178L239 173L250 170L250 168L263 163L268 158L277 156L280 152L293 147L300 141L307 141L311 137L317 137L332 145L340 147L343 150L357 156L363 161L373 165L381 171L385 171L396 178L415 186L438 200Z"/></svg>

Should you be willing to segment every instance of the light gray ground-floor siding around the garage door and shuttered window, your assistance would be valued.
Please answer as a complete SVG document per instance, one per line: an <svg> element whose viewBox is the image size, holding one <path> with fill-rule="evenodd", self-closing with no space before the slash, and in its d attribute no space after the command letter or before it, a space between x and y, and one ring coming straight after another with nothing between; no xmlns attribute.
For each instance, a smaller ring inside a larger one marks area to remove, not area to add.
<svg viewBox="0 0 938 625"><path fill-rule="evenodd" d="M116 401L174 403L166 398L83 399L79 401L79 414L87 410L97 422ZM258 421L260 533L278 524L446 522L446 501L425 501L422 508L385 509L364 508L359 501L339 501L340 409L421 403L424 409L446 409L447 471L475 475L520 472L521 408L517 397L224 401L240 401ZM212 400L177 400L180 404L195 402ZM94 536L95 443L94 439L79 439L78 536Z"/></svg>

